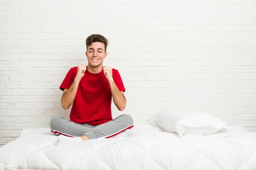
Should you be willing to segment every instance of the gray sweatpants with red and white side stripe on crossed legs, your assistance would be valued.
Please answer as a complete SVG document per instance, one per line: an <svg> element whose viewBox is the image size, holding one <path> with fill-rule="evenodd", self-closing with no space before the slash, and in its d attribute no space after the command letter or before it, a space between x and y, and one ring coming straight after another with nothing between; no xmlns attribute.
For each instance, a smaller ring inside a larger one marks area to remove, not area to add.
<svg viewBox="0 0 256 170"><path fill-rule="evenodd" d="M71 137L86 135L89 139L113 137L132 127L132 117L126 114L98 126L77 124L60 116L53 117L50 123L50 128L56 135Z"/></svg>

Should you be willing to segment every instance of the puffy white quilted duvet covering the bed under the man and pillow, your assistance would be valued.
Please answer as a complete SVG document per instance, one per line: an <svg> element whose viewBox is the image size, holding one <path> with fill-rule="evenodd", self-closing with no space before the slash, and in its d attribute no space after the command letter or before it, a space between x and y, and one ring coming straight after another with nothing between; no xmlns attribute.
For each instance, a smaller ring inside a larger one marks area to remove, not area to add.
<svg viewBox="0 0 256 170"><path fill-rule="evenodd" d="M106 139L56 146L49 129L24 130L0 148L1 170L256 170L256 132L228 137L163 132L150 124Z"/></svg>

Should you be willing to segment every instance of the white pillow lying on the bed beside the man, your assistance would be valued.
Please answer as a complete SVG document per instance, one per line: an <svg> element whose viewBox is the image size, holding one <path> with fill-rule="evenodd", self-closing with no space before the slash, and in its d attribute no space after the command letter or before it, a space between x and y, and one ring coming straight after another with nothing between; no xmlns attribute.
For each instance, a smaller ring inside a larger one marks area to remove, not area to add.
<svg viewBox="0 0 256 170"><path fill-rule="evenodd" d="M227 128L227 125L216 116L182 110L164 110L146 121L164 132L177 133L180 137L189 133L209 135Z"/></svg>

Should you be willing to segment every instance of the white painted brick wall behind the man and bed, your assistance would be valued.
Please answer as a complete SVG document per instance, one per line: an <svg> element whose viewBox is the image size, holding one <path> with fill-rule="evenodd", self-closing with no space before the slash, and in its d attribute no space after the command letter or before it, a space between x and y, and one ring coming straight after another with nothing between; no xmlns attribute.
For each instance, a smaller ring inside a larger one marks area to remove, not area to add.
<svg viewBox="0 0 256 170"><path fill-rule="evenodd" d="M110 40L136 122L189 108L256 131L256 0L0 0L0 146L49 127L85 39Z"/></svg>

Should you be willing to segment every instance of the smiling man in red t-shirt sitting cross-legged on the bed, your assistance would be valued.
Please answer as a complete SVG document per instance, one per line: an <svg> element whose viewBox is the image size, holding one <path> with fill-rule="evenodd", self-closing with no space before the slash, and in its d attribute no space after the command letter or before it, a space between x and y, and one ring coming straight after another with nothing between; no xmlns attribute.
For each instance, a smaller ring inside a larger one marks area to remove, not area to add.
<svg viewBox="0 0 256 170"><path fill-rule="evenodd" d="M132 128L130 115L112 119L111 102L118 110L126 107L124 84L116 69L103 66L107 57L108 40L102 35L90 35L86 39L88 66L73 67L67 73L60 89L63 90L61 106L72 105L70 120L53 117L51 130L58 136L57 145L78 143L99 137L113 137Z"/></svg>

